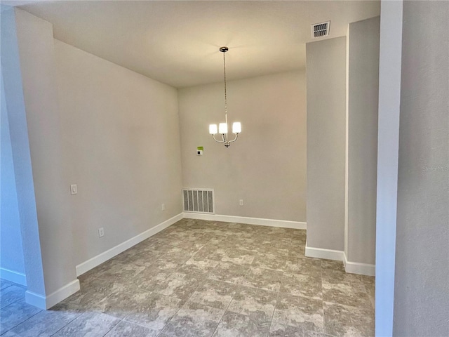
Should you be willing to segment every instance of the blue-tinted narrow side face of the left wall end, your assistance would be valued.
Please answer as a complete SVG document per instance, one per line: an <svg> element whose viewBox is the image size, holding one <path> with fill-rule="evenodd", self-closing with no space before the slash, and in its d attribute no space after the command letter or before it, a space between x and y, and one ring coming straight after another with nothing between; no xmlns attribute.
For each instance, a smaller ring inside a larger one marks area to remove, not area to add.
<svg viewBox="0 0 449 337"><path fill-rule="evenodd" d="M22 232L27 292L43 297L45 296L45 286L43 281L41 244L36 214L36 201L34 199L33 172L31 155L29 153L27 116L25 112L25 100L23 98L14 9L8 6L1 6L0 22L1 74L3 77L4 94L6 96L5 100L2 98L2 104L6 103L9 130L11 131L11 151L20 228ZM2 114L4 113L3 108L2 106ZM1 151L3 153L3 149ZM3 200L3 198L4 195L2 193L1 199Z"/></svg>

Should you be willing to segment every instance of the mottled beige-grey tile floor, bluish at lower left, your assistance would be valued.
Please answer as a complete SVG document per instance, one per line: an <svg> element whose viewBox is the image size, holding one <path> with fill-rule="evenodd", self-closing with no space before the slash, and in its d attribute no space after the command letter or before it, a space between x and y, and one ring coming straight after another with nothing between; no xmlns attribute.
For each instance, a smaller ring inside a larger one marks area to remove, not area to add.
<svg viewBox="0 0 449 337"><path fill-rule="evenodd" d="M2 337L374 336L374 278L304 257L306 232L180 220L81 275L51 310L1 282Z"/></svg>

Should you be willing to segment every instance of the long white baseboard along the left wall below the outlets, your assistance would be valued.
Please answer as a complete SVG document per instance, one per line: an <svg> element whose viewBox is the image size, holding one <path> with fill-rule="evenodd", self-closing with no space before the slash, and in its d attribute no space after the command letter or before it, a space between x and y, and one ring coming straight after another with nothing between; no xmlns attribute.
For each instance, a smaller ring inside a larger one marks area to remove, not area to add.
<svg viewBox="0 0 449 337"><path fill-rule="evenodd" d="M79 265L76 265L76 276L82 275L88 270L91 270L98 265L101 265L102 263L106 262L110 258L113 258L116 255L119 255L119 253L122 253L123 251L126 251L126 249L130 249L132 246L135 246L136 244L142 242L145 239L148 239L152 235L156 234L157 232L161 232L161 230L166 229L166 227L169 227L170 225L173 225L173 223L176 223L177 221L182 219L182 213L178 214L177 216L173 216L173 218L170 218L163 223L159 223L159 225L156 225L149 230L146 230L145 232L142 232L135 237L132 237L125 242L122 242L121 244L118 244L111 249L108 249L107 251L104 251L103 253L98 254L98 256L94 256L93 258L90 258L89 260L80 263Z"/></svg>

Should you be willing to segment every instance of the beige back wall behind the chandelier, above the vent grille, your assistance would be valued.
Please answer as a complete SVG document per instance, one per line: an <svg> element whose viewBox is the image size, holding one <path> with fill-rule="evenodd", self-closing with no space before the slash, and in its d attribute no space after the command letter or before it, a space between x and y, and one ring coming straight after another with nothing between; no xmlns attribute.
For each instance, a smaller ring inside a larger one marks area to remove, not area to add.
<svg viewBox="0 0 449 337"><path fill-rule="evenodd" d="M223 84L179 91L183 186L215 189L220 215L305 222L304 72L229 81L227 93L228 121L242 123L229 148L208 134L225 119Z"/></svg>

